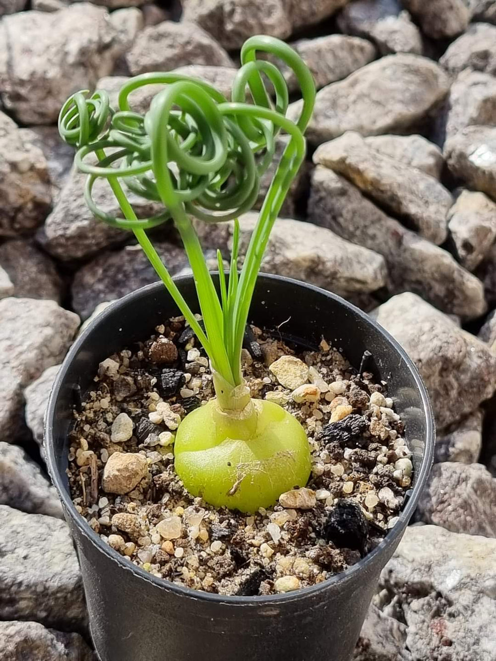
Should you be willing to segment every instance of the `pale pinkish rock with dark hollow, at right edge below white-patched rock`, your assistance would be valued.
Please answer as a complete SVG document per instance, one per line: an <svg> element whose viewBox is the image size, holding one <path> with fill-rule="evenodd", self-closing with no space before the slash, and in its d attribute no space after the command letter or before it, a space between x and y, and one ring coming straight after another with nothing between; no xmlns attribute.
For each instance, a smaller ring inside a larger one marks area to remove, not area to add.
<svg viewBox="0 0 496 661"><path fill-rule="evenodd" d="M448 213L448 229L460 263L473 271L496 240L496 204L483 193L463 190Z"/></svg>

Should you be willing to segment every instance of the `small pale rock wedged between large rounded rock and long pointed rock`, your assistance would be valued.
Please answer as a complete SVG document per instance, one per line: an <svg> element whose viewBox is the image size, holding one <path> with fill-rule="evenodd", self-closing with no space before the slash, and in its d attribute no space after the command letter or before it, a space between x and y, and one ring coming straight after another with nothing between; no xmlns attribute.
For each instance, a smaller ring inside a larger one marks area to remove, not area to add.
<svg viewBox="0 0 496 661"><path fill-rule="evenodd" d="M405 165L411 165L439 179L444 159L442 151L425 137L413 136L370 136L365 138L369 147L390 156Z"/></svg>

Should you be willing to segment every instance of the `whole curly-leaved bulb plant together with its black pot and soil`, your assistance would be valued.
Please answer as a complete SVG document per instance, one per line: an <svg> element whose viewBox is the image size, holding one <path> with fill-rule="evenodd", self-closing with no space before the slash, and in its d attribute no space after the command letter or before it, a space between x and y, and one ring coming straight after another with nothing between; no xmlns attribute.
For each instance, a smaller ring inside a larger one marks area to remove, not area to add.
<svg viewBox="0 0 496 661"><path fill-rule="evenodd" d="M259 53L296 73L297 122ZM60 114L89 208L134 231L161 279L81 334L46 414L48 468L103 661L345 661L433 457L429 399L393 338L329 292L258 277L305 156L315 87L273 38L249 39L241 63L231 102L151 73L122 87L118 111L106 93L82 92ZM155 83L149 111L132 112L130 93ZM257 199L279 130L290 140L238 273L237 217ZM97 178L122 218L95 204ZM138 219L125 189L161 208ZM169 218L192 277L173 280L147 235ZM218 253L212 275L194 223L219 221L234 223L231 265L225 274Z"/></svg>

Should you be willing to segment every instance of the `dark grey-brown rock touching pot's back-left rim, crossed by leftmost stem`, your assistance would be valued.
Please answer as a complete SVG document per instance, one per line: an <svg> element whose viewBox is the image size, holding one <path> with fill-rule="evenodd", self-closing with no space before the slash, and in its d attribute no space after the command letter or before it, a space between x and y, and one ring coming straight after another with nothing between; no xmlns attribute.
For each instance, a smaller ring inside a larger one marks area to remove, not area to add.
<svg viewBox="0 0 496 661"><path fill-rule="evenodd" d="M169 243L156 243L155 249L171 275L188 266L185 251ZM75 274L72 286L74 309L86 319L95 307L126 293L157 282L159 277L139 245L100 254Z"/></svg>

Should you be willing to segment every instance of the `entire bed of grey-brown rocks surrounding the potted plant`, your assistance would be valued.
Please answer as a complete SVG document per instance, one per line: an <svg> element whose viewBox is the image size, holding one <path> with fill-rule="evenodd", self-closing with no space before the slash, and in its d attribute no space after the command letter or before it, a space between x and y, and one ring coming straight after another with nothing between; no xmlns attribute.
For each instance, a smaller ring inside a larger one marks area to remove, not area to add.
<svg viewBox="0 0 496 661"><path fill-rule="evenodd" d="M227 94L259 32L294 44L319 90L263 268L373 311L417 362L438 425L429 485L355 658L496 658L496 0L0 0L5 661L95 658L43 414L80 322L155 280L132 237L87 212L60 105L85 87L115 98L126 77L160 69ZM114 209L104 186L96 195ZM253 222L241 219L241 256ZM198 231L209 259L228 256L229 224ZM172 227L156 241L173 274L188 268Z"/></svg>

